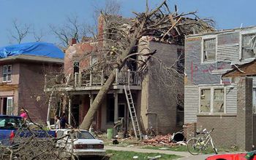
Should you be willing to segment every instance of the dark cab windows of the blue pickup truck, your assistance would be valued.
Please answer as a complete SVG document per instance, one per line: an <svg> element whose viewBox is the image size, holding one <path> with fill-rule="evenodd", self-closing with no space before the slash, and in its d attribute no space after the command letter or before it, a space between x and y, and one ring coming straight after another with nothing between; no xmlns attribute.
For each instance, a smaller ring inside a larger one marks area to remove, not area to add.
<svg viewBox="0 0 256 160"><path fill-rule="evenodd" d="M21 126L19 117L0 117L0 129L15 129Z"/></svg>

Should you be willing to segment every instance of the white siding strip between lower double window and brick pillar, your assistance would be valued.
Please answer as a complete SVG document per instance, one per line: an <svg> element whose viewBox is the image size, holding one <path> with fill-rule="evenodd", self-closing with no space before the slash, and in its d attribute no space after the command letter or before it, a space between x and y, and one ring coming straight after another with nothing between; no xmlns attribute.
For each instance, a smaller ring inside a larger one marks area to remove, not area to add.
<svg viewBox="0 0 256 160"><path fill-rule="evenodd" d="M233 87L226 87L226 112L236 113L237 108L237 87L233 84Z"/></svg>

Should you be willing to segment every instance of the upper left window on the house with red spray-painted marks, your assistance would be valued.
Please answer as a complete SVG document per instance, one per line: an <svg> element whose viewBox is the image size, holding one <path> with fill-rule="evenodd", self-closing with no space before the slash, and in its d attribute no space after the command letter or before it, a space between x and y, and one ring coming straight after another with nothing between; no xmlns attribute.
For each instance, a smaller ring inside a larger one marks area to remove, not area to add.
<svg viewBox="0 0 256 160"><path fill-rule="evenodd" d="M216 60L216 38L203 39L203 62Z"/></svg>

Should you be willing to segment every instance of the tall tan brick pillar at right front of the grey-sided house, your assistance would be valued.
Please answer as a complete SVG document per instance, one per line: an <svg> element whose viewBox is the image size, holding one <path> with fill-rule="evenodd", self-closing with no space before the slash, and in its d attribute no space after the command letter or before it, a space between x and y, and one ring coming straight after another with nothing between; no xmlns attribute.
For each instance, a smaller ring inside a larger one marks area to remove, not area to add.
<svg viewBox="0 0 256 160"><path fill-rule="evenodd" d="M236 143L245 151L252 150L252 78L241 77L237 92Z"/></svg>

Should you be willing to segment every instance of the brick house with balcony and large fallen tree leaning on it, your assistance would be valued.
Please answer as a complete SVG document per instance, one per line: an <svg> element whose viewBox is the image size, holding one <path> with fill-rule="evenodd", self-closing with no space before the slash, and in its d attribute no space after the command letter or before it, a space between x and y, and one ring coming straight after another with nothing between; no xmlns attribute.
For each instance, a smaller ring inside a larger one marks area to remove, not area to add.
<svg viewBox="0 0 256 160"><path fill-rule="evenodd" d="M103 30L104 23L99 23L99 35ZM69 124L75 127L78 127L83 121L94 97L105 82L105 75L107 74L105 71L89 71L89 68L94 65L97 56L99 56L94 55L94 51L97 51L97 46L104 45L104 43L104 41L92 42L90 39L86 39L80 44L75 44L73 41L67 48L64 57L64 74L69 82L62 86L57 85L52 89L53 86L48 85L46 81L45 92L48 94L64 92L66 94L64 97L68 97L68 100L64 100L65 104L62 110L69 114ZM132 52L148 54L148 52L157 49L155 56L162 60L162 63L169 66L174 65L173 68L183 73L183 46L159 43L151 37L143 37L138 43L138 47L135 47ZM83 57L83 55L89 56ZM137 60L143 59L143 56L136 55L134 58ZM97 112L93 124L94 129L105 131L108 128L113 128L114 121L121 118L124 119L124 130L131 129L124 85L129 85L131 89L132 99L143 133L146 133L146 129L150 127L158 134L177 132L182 129L184 111L183 104L180 101L183 102L183 78L168 77L167 79L165 73L159 73L156 70L156 68L160 68L157 60L152 59L149 63L151 67L145 71L146 74L144 75L138 72L138 65L132 63L127 63L121 71L116 71L116 81L114 81L107 97L105 97L105 101ZM160 83L161 81L157 77L165 77L167 79L166 85L179 80L177 82L178 87L165 90L167 86ZM50 81L50 76L47 79ZM175 96L168 96L168 94ZM179 97L179 100L177 100L177 97ZM50 119L48 120L50 121Z"/></svg>

